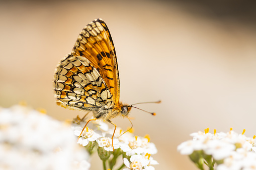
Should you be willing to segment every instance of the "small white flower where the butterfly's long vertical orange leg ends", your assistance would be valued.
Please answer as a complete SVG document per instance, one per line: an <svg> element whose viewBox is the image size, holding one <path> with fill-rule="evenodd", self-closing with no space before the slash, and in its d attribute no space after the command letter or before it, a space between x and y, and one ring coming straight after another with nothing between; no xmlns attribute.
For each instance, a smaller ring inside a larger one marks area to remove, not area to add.
<svg viewBox="0 0 256 170"><path fill-rule="evenodd" d="M112 147L112 139L110 137L101 137L96 140L99 144L99 147L104 147L105 150L107 151L113 151ZM113 145L114 149L118 149L118 139L113 139Z"/></svg>

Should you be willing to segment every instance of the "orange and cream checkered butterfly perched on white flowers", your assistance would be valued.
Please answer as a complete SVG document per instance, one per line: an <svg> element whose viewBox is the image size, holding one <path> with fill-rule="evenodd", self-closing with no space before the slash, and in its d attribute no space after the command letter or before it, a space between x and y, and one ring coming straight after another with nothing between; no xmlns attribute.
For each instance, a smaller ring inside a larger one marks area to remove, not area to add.
<svg viewBox="0 0 256 170"><path fill-rule="evenodd" d="M102 19L96 19L82 29L72 52L57 65L54 92L58 105L92 111L94 118L88 120L87 124L96 119L113 124L114 150L113 137L117 126L110 119L119 115L127 117L134 106L119 101L116 51L109 29Z"/></svg>

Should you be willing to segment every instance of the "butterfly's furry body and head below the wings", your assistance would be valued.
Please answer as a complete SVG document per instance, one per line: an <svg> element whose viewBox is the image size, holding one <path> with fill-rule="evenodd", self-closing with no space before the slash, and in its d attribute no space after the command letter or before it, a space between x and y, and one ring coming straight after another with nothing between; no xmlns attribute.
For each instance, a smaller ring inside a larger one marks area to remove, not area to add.
<svg viewBox="0 0 256 170"><path fill-rule="evenodd" d="M127 104L122 104L121 102L118 105L113 107L106 108L105 106L98 108L93 111L94 117L97 119L111 119L116 116L127 116L131 110L131 106Z"/></svg>

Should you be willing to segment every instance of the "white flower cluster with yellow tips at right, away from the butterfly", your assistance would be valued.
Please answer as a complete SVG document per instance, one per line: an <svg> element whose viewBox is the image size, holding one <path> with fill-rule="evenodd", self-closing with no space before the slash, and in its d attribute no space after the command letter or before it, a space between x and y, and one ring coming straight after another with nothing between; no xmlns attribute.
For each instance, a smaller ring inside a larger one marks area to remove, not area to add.
<svg viewBox="0 0 256 170"><path fill-rule="evenodd" d="M216 170L256 169L256 140L243 133L232 131L211 134L208 132L192 133L193 140L178 146L181 154L187 154L191 160L203 169L203 162ZM202 161L203 160L203 161Z"/></svg>

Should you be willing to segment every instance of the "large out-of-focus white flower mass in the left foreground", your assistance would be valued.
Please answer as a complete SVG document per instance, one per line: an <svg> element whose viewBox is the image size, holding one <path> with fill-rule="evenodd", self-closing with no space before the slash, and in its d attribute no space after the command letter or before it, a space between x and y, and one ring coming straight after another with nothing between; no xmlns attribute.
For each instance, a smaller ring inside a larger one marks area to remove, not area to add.
<svg viewBox="0 0 256 170"><path fill-rule="evenodd" d="M70 126L37 110L0 107L0 169L90 168Z"/></svg>

